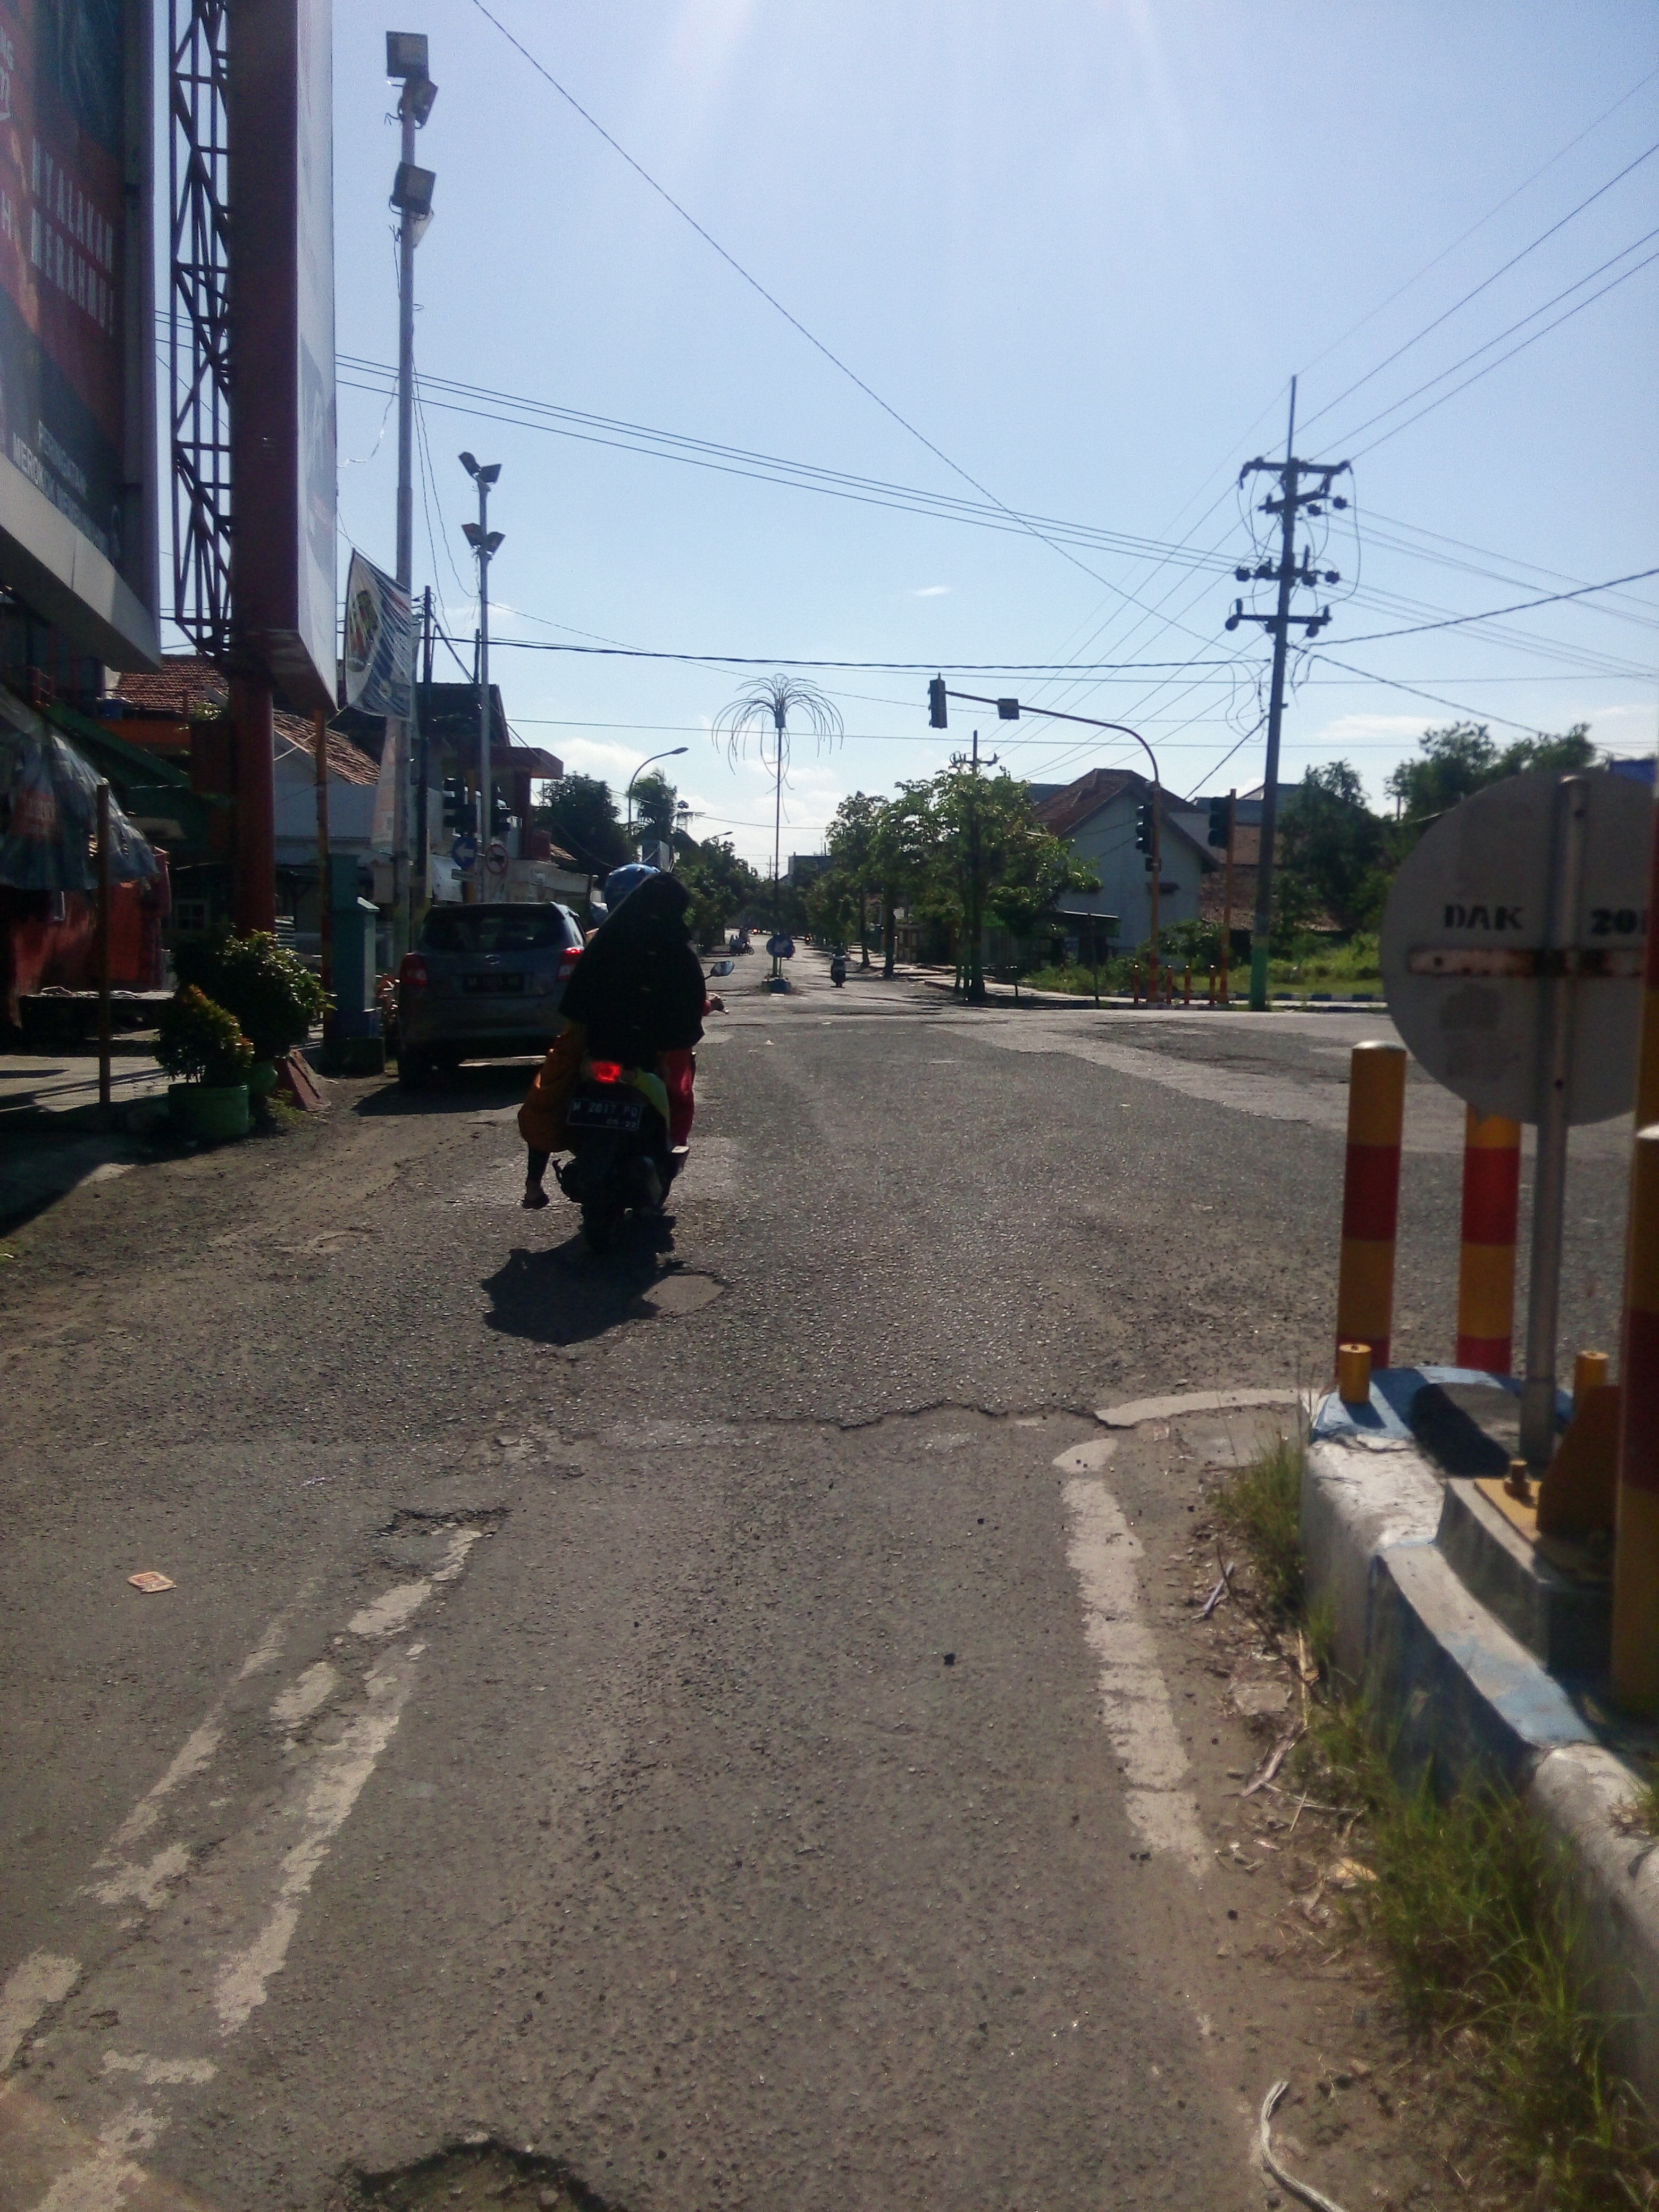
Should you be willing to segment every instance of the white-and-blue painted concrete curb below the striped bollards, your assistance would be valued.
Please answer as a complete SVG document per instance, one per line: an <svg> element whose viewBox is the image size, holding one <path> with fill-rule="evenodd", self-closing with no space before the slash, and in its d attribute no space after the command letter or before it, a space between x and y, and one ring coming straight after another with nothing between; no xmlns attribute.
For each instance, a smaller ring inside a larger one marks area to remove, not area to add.
<svg viewBox="0 0 1659 2212"><path fill-rule="evenodd" d="M1626 1825L1637 1774L1566 1688L1486 1613L1436 1546L1442 1480L1398 1438L1307 1447L1307 1593L1334 1661L1407 1772L1500 1774L1559 1838L1584 1909L1584 1969L1613 2062L1659 2110L1659 1843Z"/></svg>

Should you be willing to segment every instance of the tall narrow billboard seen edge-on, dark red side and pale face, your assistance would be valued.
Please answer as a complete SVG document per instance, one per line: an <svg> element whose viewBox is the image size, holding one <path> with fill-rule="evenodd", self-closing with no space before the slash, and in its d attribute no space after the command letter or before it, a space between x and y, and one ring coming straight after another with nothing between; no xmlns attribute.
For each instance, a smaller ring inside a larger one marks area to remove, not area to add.
<svg viewBox="0 0 1659 2212"><path fill-rule="evenodd" d="M237 641L296 708L332 710L332 0L234 9L228 106Z"/></svg>

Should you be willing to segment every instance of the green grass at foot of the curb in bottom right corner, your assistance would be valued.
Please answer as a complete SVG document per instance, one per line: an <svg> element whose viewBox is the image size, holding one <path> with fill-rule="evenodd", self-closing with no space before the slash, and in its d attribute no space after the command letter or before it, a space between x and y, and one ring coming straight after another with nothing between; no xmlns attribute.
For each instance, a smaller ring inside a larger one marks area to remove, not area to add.
<svg viewBox="0 0 1659 2212"><path fill-rule="evenodd" d="M1495 2099L1526 2203L1659 2205L1652 2124L1577 1984L1566 1847L1506 1790L1402 1790L1352 1703L1323 1703L1310 1741L1321 1785L1363 1807L1349 1849L1376 1880L1352 1911L1416 2028Z"/></svg>

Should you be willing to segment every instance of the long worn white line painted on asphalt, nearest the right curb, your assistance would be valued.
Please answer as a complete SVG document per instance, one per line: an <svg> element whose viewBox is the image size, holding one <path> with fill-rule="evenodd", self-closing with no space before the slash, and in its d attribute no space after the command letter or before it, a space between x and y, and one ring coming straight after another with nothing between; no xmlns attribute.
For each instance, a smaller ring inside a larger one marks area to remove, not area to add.
<svg viewBox="0 0 1659 2212"><path fill-rule="evenodd" d="M1055 1462L1066 1458L1060 1455ZM1104 1482L1073 1475L1064 1486L1066 1564L1084 1601L1084 1637L1099 1661L1099 1710L1124 1767L1124 1809L1152 1851L1168 1851L1194 1876L1208 1865L1188 1756L1152 1632L1141 1613L1141 1544Z"/></svg>

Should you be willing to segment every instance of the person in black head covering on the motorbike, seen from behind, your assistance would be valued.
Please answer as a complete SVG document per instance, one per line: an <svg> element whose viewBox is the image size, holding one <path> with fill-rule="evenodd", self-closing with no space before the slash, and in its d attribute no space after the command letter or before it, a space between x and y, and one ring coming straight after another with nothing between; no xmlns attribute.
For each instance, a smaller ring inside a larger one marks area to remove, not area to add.
<svg viewBox="0 0 1659 2212"><path fill-rule="evenodd" d="M661 1075L668 1091L668 1144L684 1148L692 1126L692 1046L703 1035L703 1015L723 1002L708 995L703 962L686 936L690 891L677 876L630 860L613 867L604 880L611 909L588 938L586 951L564 987L564 1020L580 1031L582 1051L595 1060L619 1060L626 1068L648 1068ZM562 1035L546 1055L546 1071L560 1066L575 1073L573 1046ZM546 1206L542 1188L551 1146L531 1144L526 1115L535 1091L520 1110L520 1133L526 1139L529 1168L524 1199L529 1208ZM551 1130L540 1130L549 1135Z"/></svg>

